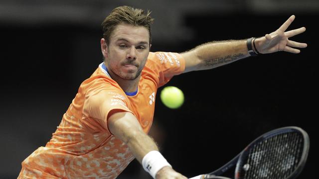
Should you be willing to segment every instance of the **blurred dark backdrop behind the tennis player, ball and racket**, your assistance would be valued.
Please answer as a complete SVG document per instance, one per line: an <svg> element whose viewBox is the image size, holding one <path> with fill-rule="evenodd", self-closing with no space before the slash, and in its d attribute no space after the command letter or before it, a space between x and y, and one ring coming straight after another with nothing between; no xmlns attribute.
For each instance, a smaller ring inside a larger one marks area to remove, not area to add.
<svg viewBox="0 0 319 179"><path fill-rule="evenodd" d="M211 172L259 135L299 126L311 139L299 177L313 178L318 160L318 0L1 0L0 178L15 179L21 162L45 146L81 82L102 62L100 24L119 5L152 10L151 51L183 52L208 41L259 37L279 28L307 31L300 54L250 57L174 77L179 109L156 101L151 135L174 169L187 177ZM119 179L150 179L135 160Z"/></svg>

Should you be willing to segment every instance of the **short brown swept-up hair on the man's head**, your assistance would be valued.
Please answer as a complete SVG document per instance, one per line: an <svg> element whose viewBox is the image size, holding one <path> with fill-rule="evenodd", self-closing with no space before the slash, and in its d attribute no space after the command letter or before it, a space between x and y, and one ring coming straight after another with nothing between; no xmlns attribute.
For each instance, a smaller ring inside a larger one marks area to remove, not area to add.
<svg viewBox="0 0 319 179"><path fill-rule="evenodd" d="M118 24L124 22L134 26L146 27L149 30L151 44L151 24L154 22L154 18L152 18L150 14L151 11L149 10L147 13L144 13L143 9L133 8L130 6L116 7L101 24L103 28L103 38L106 39L106 43L109 45L110 36L113 30Z"/></svg>

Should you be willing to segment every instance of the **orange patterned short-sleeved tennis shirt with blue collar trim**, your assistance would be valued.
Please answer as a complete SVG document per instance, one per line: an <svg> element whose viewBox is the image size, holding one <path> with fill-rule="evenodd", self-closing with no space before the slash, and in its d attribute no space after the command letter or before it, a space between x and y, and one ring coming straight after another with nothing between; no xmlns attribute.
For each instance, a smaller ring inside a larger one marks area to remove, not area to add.
<svg viewBox="0 0 319 179"><path fill-rule="evenodd" d="M115 179L134 156L110 133L109 112L132 112L148 133L157 89L184 69L180 54L150 52L137 91L126 93L100 64L81 84L51 140L22 162L18 179Z"/></svg>

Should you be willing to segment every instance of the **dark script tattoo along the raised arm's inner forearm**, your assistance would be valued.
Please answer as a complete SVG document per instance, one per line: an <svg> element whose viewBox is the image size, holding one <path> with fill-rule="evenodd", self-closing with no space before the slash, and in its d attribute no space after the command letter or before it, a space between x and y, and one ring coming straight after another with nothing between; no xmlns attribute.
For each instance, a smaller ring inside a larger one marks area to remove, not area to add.
<svg viewBox="0 0 319 179"><path fill-rule="evenodd" d="M207 60L204 60L204 66L214 68L214 67L218 67L221 65L225 65L225 64L234 62L234 61L239 60L239 59L244 58L244 57L245 57L244 54L240 53L240 54L228 55L225 57L207 59Z"/></svg>

